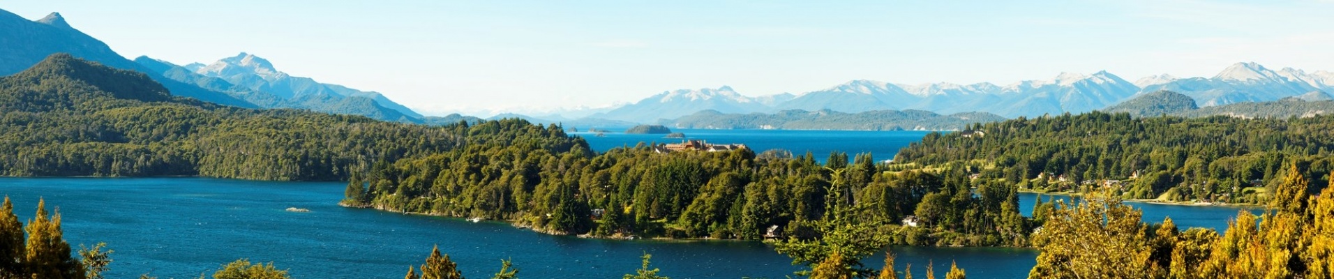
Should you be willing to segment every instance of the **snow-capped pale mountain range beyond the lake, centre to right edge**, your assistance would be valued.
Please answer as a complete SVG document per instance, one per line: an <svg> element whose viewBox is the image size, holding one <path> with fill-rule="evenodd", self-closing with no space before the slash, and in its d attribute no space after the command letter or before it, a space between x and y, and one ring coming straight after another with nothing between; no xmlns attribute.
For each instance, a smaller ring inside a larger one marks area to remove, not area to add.
<svg viewBox="0 0 1334 279"><path fill-rule="evenodd" d="M1273 101L1283 97L1334 91L1334 72L1282 68L1273 71L1257 63L1237 63L1213 77L1155 75L1131 83L1106 71L1091 75L1061 73L1046 80L1025 80L1009 85L991 83L895 84L852 80L804 93L746 96L731 87L678 89L626 104L595 117L636 123L659 123L700 111L719 113L778 113L780 111L867 111L919 109L935 113L988 112L1005 117L1081 113L1103 109L1131 97L1173 91L1191 97L1199 107L1246 101Z"/></svg>

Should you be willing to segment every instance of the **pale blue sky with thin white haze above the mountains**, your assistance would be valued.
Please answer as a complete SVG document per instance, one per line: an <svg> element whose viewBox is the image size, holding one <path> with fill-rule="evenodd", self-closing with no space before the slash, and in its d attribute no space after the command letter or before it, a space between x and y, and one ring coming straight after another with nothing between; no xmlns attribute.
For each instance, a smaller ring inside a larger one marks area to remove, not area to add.
<svg viewBox="0 0 1334 279"><path fill-rule="evenodd" d="M731 85L800 93L1109 71L1213 76L1230 64L1334 71L1334 0L335 1L7 0L60 12L120 55L176 64L248 52L426 115L634 103Z"/></svg>

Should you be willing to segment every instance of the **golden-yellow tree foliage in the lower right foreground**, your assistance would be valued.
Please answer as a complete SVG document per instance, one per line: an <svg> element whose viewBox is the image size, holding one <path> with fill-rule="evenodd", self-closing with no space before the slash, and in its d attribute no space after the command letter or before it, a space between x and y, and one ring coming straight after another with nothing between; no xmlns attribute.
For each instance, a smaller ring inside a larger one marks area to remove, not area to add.
<svg viewBox="0 0 1334 279"><path fill-rule="evenodd" d="M1331 278L1334 190L1307 196L1297 167L1275 187L1269 211L1241 211L1222 235L1179 231L1171 219L1145 224L1115 198L1085 199L1050 211L1034 234L1030 278Z"/></svg>

